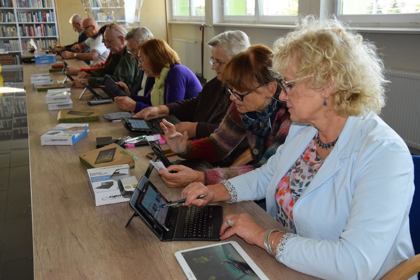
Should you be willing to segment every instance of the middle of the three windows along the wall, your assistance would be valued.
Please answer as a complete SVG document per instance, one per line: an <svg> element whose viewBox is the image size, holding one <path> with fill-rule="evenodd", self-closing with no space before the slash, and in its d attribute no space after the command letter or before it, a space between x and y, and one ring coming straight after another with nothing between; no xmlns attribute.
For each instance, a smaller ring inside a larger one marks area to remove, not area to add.
<svg viewBox="0 0 420 280"><path fill-rule="evenodd" d="M225 21L294 23L299 0L224 0Z"/></svg>

